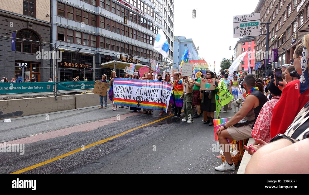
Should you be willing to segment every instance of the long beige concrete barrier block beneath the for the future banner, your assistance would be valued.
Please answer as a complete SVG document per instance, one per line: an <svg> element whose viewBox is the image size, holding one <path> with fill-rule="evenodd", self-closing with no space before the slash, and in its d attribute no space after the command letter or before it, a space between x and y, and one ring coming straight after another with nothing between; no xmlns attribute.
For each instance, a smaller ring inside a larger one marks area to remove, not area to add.
<svg viewBox="0 0 309 195"><path fill-rule="evenodd" d="M75 96L0 100L0 119L75 109Z"/></svg>

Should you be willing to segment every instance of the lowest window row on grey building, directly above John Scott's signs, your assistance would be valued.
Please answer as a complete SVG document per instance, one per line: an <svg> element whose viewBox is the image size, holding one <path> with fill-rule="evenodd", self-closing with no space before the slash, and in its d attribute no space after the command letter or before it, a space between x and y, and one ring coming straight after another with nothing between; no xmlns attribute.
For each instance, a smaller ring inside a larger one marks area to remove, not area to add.
<svg viewBox="0 0 309 195"><path fill-rule="evenodd" d="M106 37L90 35L84 32L70 30L67 28L57 27L57 40L69 43L81 44L85 46L105 48L112 51L123 52L151 59L155 58L155 52L151 50L140 48L137 47L136 45L130 45ZM156 60L161 59L162 55L157 54Z"/></svg>

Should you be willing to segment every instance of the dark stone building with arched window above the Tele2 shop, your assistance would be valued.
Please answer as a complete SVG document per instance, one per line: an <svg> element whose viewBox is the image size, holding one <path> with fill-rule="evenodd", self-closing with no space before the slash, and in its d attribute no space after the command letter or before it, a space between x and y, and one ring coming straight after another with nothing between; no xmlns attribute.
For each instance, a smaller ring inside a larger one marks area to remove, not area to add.
<svg viewBox="0 0 309 195"><path fill-rule="evenodd" d="M37 57L50 51L49 0L0 0L0 77L17 82L35 77L36 82L51 77L51 61ZM12 39L13 31L16 38ZM26 39L26 40L20 40ZM15 42L15 51L11 47Z"/></svg>

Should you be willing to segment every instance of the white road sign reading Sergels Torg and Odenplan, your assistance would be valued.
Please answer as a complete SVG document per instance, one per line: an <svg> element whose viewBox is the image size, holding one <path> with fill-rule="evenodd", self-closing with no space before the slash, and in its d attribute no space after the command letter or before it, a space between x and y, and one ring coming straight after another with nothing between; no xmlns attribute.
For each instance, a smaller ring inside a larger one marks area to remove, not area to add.
<svg viewBox="0 0 309 195"><path fill-rule="evenodd" d="M259 36L260 13L233 16L233 37Z"/></svg>

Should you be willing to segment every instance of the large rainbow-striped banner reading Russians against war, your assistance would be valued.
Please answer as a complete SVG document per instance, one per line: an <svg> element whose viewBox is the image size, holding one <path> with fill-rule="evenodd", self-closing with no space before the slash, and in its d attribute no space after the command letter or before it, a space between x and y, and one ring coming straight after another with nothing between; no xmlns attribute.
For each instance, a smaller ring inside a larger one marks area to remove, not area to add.
<svg viewBox="0 0 309 195"><path fill-rule="evenodd" d="M114 79L114 104L167 112L172 85L161 81Z"/></svg>

